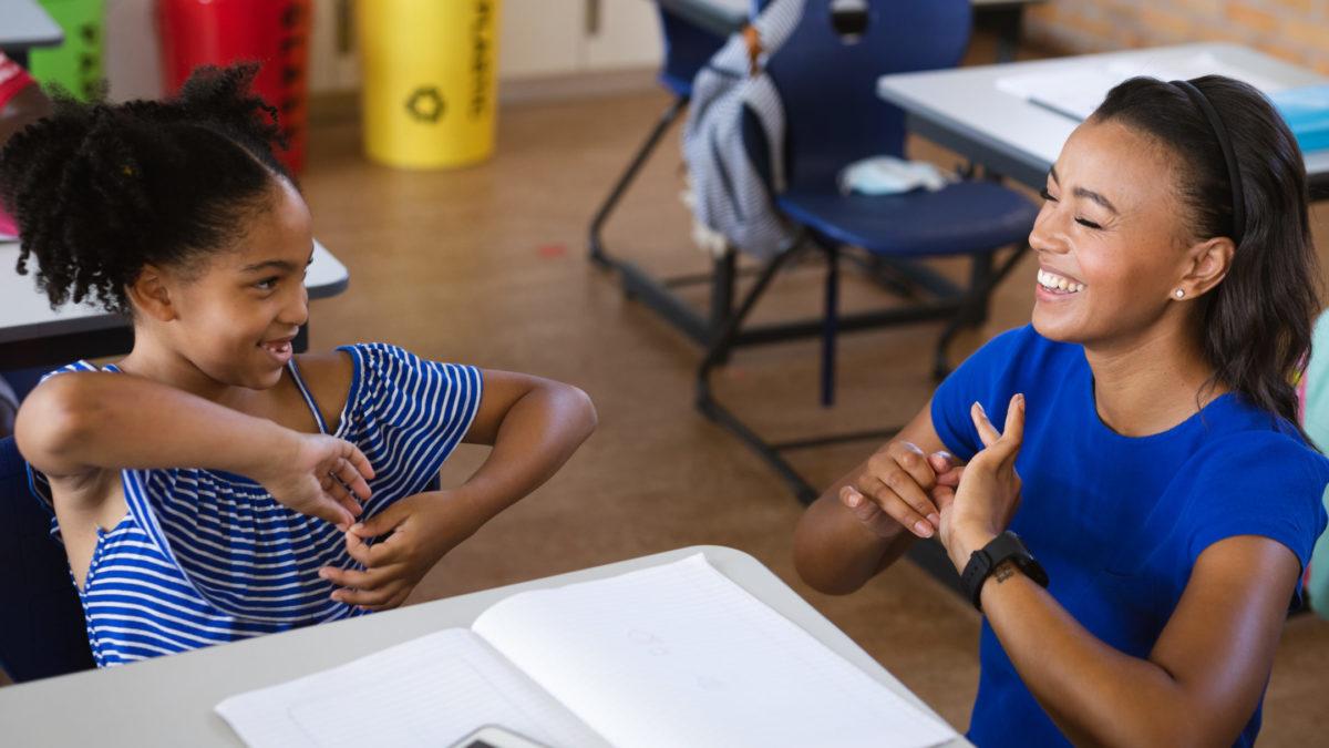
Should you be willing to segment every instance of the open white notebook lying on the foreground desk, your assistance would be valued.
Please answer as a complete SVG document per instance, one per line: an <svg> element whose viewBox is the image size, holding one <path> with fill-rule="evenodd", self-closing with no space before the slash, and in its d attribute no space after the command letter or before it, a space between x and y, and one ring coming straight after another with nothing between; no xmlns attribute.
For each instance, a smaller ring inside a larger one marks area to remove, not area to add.
<svg viewBox="0 0 1329 748"><path fill-rule="evenodd" d="M250 745L937 745L956 732L707 563L521 592L449 628L226 699Z"/></svg>

